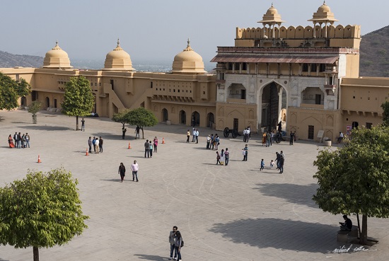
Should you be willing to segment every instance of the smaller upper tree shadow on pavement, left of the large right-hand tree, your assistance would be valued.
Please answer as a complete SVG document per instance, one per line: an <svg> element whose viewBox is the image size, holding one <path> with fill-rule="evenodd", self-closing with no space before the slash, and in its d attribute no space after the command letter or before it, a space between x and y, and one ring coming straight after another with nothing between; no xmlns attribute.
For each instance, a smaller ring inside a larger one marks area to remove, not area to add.
<svg viewBox="0 0 389 261"><path fill-rule="evenodd" d="M257 184L257 186L254 190L260 191L263 195L279 197L294 204L303 204L308 207L318 208L312 200L312 196L318 188L318 185L315 183L309 185L265 183Z"/></svg>

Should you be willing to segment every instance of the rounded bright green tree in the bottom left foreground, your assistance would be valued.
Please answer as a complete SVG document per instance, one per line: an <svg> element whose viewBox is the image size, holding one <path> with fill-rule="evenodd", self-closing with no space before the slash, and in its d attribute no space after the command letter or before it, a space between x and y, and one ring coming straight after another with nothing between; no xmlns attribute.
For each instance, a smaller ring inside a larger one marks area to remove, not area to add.
<svg viewBox="0 0 389 261"><path fill-rule="evenodd" d="M88 228L84 221L78 181L64 168L31 172L26 178L0 188L0 243L15 248L64 245Z"/></svg>

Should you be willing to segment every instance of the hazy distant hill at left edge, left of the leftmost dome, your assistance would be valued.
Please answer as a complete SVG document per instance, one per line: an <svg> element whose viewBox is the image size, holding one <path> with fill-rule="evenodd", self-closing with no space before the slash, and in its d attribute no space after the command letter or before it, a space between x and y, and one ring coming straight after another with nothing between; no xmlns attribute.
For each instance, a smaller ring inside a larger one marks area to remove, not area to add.
<svg viewBox="0 0 389 261"><path fill-rule="evenodd" d="M0 68L15 66L39 68L42 65L43 57L26 54L10 54L0 51Z"/></svg>

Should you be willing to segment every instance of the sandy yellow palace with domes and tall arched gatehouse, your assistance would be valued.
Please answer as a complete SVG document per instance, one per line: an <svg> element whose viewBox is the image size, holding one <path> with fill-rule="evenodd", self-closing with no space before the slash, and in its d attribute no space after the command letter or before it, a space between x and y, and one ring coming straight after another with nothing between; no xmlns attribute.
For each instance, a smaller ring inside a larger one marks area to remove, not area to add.
<svg viewBox="0 0 389 261"><path fill-rule="evenodd" d="M100 70L73 69L57 43L41 68L0 71L30 83L22 105L40 100L49 110L61 109L65 83L82 75L91 82L94 112L103 117L141 106L160 122L189 126L194 120L217 130L264 132L281 122L307 140L381 123L389 79L359 77L360 26L335 25L325 3L308 21L312 25L286 27L271 6L260 27L236 28L235 46L217 48L216 75L204 71L189 40L169 73L135 71L119 40Z"/></svg>

